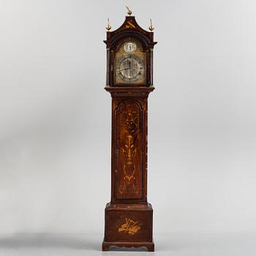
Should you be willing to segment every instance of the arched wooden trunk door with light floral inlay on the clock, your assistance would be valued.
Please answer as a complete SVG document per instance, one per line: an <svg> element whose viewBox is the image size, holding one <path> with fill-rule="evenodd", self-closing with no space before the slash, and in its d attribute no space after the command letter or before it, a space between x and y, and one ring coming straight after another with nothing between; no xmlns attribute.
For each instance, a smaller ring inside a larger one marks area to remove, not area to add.
<svg viewBox="0 0 256 256"><path fill-rule="evenodd" d="M116 199L143 197L143 110L133 99L116 110Z"/></svg>

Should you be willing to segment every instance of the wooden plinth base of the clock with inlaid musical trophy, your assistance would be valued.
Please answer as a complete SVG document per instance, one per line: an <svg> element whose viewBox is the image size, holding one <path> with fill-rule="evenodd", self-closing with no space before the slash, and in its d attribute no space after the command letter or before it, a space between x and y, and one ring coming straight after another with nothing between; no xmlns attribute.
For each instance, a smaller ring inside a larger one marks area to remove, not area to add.
<svg viewBox="0 0 256 256"><path fill-rule="evenodd" d="M110 204L105 208L105 238L102 250L110 246L146 246L154 252L153 209L150 203Z"/></svg>

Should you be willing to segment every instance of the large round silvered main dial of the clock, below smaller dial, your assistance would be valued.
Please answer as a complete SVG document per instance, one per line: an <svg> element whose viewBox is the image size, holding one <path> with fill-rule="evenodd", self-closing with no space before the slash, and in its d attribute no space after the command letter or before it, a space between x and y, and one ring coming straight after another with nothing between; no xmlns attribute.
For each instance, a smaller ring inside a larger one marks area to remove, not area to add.
<svg viewBox="0 0 256 256"><path fill-rule="evenodd" d="M140 57L134 54L122 56L117 60L116 75L124 82L135 82L144 74L144 64Z"/></svg>

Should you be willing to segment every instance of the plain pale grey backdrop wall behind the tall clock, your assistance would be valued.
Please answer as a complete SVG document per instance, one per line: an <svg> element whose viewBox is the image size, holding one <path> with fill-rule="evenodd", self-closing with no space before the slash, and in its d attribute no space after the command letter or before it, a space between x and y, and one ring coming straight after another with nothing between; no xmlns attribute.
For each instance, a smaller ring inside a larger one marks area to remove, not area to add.
<svg viewBox="0 0 256 256"><path fill-rule="evenodd" d="M154 233L256 231L256 2L0 1L0 233L102 233L105 24L155 26Z"/></svg>

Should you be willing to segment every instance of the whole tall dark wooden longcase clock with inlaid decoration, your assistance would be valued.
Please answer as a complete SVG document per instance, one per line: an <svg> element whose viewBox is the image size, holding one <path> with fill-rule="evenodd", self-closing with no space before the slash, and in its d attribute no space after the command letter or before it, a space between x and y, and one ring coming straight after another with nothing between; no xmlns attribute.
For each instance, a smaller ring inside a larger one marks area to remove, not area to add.
<svg viewBox="0 0 256 256"><path fill-rule="evenodd" d="M148 94L153 86L154 27L142 29L128 10L124 23L107 31L107 79L112 97L111 201L105 208L110 246L154 251L153 209L147 201ZM110 29L110 25L106 27Z"/></svg>

